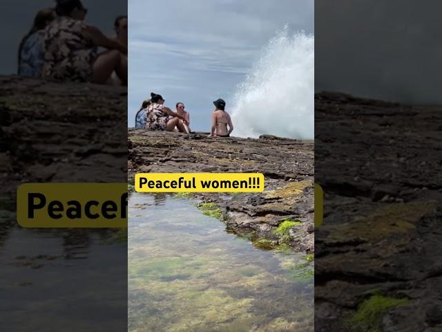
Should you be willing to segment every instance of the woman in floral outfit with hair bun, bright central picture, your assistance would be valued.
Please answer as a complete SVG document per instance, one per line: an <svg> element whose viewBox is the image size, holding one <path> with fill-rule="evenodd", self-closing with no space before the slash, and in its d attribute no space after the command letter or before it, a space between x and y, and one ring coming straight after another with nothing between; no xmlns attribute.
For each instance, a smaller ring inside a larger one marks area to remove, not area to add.
<svg viewBox="0 0 442 332"><path fill-rule="evenodd" d="M186 132L183 126L188 124L186 118L164 106L162 95L151 93L151 102L146 109L146 129L173 131L177 127L180 132Z"/></svg>

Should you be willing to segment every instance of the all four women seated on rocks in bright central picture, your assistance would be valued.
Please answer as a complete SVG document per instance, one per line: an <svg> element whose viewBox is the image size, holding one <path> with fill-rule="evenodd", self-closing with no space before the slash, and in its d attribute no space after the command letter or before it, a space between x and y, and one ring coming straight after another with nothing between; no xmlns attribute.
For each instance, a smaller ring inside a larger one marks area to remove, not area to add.
<svg viewBox="0 0 442 332"><path fill-rule="evenodd" d="M229 137L233 124L229 113L224 108L226 102L222 99L213 102L215 109L212 113L211 133L209 136ZM150 100L144 100L135 116L135 128L155 131L180 131L191 133L190 115L184 111L184 103L177 102L176 111L164 105L164 98L157 93L151 93Z"/></svg>

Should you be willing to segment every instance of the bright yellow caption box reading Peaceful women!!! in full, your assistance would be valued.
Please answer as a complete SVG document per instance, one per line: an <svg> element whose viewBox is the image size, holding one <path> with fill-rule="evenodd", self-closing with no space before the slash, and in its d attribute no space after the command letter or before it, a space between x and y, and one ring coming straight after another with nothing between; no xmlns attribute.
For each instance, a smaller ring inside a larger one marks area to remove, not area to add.
<svg viewBox="0 0 442 332"><path fill-rule="evenodd" d="M262 192L261 173L138 173L137 192Z"/></svg>

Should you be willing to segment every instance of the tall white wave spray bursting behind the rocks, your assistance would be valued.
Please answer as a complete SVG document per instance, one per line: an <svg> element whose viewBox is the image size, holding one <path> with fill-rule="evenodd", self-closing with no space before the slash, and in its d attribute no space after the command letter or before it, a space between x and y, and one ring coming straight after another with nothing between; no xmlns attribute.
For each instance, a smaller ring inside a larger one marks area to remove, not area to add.
<svg viewBox="0 0 442 332"><path fill-rule="evenodd" d="M262 49L231 112L234 136L314 138L314 35L286 26Z"/></svg>

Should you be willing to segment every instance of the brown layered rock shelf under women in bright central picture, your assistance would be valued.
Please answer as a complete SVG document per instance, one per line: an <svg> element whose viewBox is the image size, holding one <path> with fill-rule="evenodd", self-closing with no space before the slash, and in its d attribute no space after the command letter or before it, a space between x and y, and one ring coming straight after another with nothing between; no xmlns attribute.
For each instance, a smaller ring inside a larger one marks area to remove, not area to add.
<svg viewBox="0 0 442 332"><path fill-rule="evenodd" d="M209 138L207 133L164 133L128 129L128 176L137 172L260 172L265 192L205 193L230 230L314 251L314 144L275 136ZM277 234L284 221L296 221L284 241Z"/></svg>

